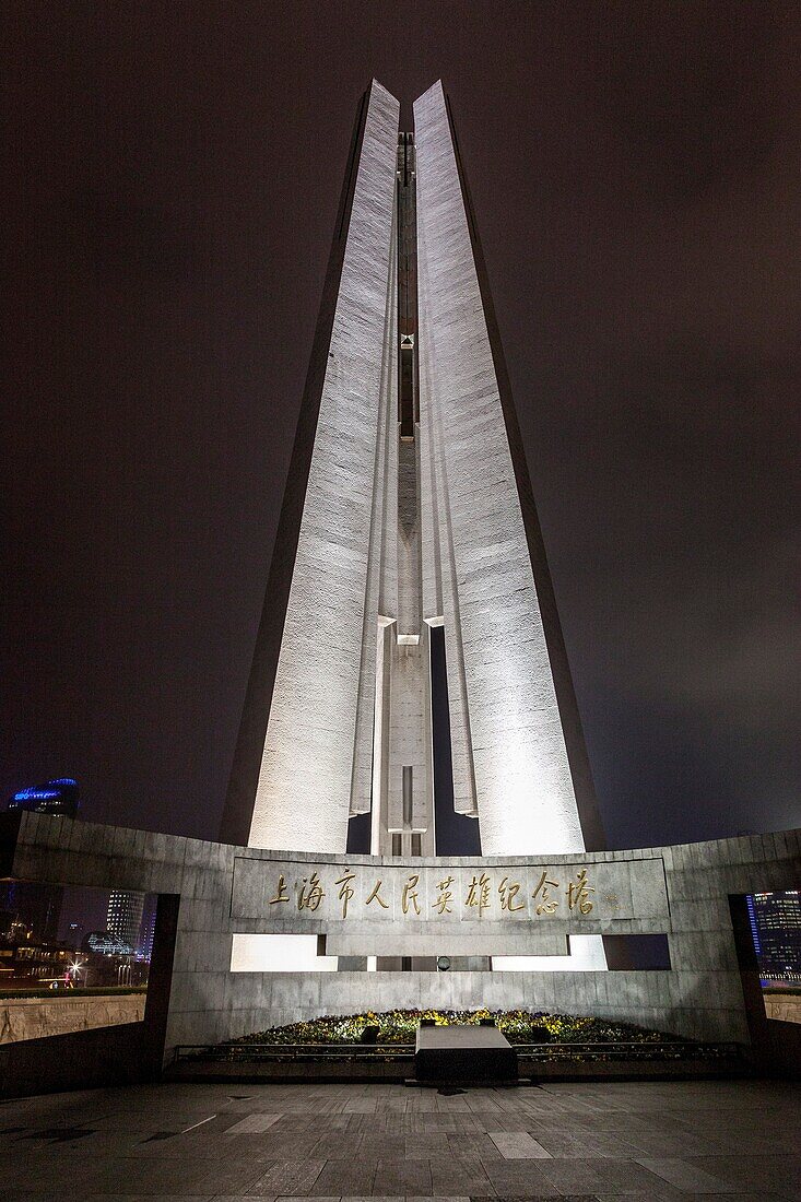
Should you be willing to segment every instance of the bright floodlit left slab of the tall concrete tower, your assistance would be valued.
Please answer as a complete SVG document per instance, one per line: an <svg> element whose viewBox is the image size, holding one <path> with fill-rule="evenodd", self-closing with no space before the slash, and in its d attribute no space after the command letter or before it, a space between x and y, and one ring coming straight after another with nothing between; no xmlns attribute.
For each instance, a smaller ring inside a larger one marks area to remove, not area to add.
<svg viewBox="0 0 801 1202"><path fill-rule="evenodd" d="M350 809L388 320L398 102L368 95L249 843L342 851Z"/></svg>

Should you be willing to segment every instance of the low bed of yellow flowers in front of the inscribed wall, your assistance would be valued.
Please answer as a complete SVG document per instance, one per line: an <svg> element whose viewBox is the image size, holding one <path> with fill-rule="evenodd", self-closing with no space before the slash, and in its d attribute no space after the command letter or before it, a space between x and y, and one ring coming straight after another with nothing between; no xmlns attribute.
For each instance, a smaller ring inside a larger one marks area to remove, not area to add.
<svg viewBox="0 0 801 1202"><path fill-rule="evenodd" d="M363 1014L326 1014L304 1023L273 1027L247 1035L237 1043L358 1043L366 1028L378 1027L379 1043L414 1043L422 1019L438 1027L492 1018L510 1043L607 1043L616 1041L681 1042L675 1035L628 1023L574 1014L530 1013L527 1010L388 1010Z"/></svg>

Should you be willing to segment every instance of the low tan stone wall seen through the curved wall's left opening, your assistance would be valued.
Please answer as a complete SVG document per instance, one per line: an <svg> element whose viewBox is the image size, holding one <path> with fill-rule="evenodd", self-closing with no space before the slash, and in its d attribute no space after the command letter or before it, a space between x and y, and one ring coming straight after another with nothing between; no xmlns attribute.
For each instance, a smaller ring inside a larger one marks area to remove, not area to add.
<svg viewBox="0 0 801 1202"><path fill-rule="evenodd" d="M69 993L48 998L0 998L0 1043L38 1040L94 1027L140 1023L144 1018L144 993L93 994L71 998Z"/></svg>

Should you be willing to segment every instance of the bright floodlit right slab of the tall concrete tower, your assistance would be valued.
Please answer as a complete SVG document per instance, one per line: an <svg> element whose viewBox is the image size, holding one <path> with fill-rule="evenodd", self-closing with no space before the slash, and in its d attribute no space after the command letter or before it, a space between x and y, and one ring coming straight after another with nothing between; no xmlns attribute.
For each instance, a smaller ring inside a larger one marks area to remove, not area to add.
<svg viewBox="0 0 801 1202"><path fill-rule="evenodd" d="M457 809L477 809L485 855L582 851L441 84L415 102L415 135L421 453L432 460L429 537L444 560L439 572L433 567L441 581Z"/></svg>

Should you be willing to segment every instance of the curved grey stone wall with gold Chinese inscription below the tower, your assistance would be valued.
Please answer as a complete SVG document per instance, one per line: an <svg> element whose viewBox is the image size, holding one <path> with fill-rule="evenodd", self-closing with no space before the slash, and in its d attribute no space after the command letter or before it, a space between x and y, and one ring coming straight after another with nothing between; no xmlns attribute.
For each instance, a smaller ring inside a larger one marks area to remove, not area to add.
<svg viewBox="0 0 801 1202"><path fill-rule="evenodd" d="M731 900L801 879L801 831L585 856L416 862L267 852L40 814L6 816L1 833L4 875L177 899L174 944L165 947L158 929L154 947L154 965L168 965L167 1058L177 1043L320 1014L427 1006L595 1014L748 1042ZM565 936L612 933L664 933L670 969L576 971L566 956L564 971L232 968L236 940L255 936L305 936L315 958L333 959L391 947L461 954L464 934L473 954L480 946L492 957L556 956Z"/></svg>

